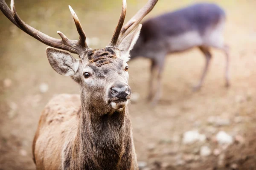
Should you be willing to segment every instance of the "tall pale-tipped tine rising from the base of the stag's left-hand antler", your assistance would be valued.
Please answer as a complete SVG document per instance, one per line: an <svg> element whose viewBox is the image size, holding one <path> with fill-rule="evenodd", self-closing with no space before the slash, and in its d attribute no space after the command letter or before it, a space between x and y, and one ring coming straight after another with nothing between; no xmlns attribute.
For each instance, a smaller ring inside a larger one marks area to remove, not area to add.
<svg viewBox="0 0 256 170"><path fill-rule="evenodd" d="M77 32L79 34L79 44L83 47L86 47L86 48L89 48L86 44L86 35L85 35L85 32L81 26L81 23L75 13L75 11L73 10L73 8L71 6L68 6L70 8L70 12L72 14L72 17L74 19L74 22L76 24L76 29L77 29Z"/></svg>

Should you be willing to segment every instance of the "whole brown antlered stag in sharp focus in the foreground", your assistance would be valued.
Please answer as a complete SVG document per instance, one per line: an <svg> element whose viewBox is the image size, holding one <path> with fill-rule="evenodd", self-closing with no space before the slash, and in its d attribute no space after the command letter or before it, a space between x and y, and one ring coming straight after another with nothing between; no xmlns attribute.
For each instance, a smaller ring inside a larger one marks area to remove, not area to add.
<svg viewBox="0 0 256 170"><path fill-rule="evenodd" d="M156 5L148 0L125 25L126 0L110 42L92 49L81 23L69 6L79 40L49 37L26 24L0 0L3 14L26 34L43 42L49 64L58 74L80 85L81 95L59 94L45 106L32 143L38 170L138 170L128 103L129 51L139 37L140 21ZM79 59L70 53L78 54Z"/></svg>

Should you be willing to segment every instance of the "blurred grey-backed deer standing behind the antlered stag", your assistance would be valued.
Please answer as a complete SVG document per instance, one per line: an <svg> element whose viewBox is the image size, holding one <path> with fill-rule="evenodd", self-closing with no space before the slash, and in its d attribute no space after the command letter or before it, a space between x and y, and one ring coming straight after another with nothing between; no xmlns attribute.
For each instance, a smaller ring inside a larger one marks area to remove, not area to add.
<svg viewBox="0 0 256 170"><path fill-rule="evenodd" d="M195 47L204 54L206 63L201 79L193 90L198 91L204 82L212 58L210 48L224 51L226 87L230 86L229 47L224 44L223 37L225 19L224 10L216 4L197 3L143 22L130 58L145 57L151 60L148 100L152 105L161 97L161 78L167 54ZM154 83L154 79L157 79L157 83Z"/></svg>

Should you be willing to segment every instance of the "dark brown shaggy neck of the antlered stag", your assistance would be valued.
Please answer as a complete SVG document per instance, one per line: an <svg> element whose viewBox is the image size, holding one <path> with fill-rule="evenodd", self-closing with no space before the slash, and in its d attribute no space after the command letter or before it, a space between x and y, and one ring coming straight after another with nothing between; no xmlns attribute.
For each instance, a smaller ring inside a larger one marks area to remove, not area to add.
<svg viewBox="0 0 256 170"><path fill-rule="evenodd" d="M131 166L133 142L128 109L114 113L95 112L95 108L82 104L74 144L78 168L114 170L123 166L121 161L127 161L125 166Z"/></svg>

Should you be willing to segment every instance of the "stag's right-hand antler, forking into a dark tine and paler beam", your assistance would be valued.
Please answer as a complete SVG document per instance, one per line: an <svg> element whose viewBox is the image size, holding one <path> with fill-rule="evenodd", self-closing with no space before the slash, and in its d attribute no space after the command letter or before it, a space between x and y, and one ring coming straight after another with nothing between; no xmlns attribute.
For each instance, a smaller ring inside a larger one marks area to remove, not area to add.
<svg viewBox="0 0 256 170"><path fill-rule="evenodd" d="M140 23L140 21L154 8L158 0L148 0L143 8L138 11L134 17L129 20L125 26L122 27L125 20L126 0L123 0L122 13L119 22L114 31L113 37L109 43L110 46L118 47L122 40ZM122 27L122 28L121 28Z"/></svg>

